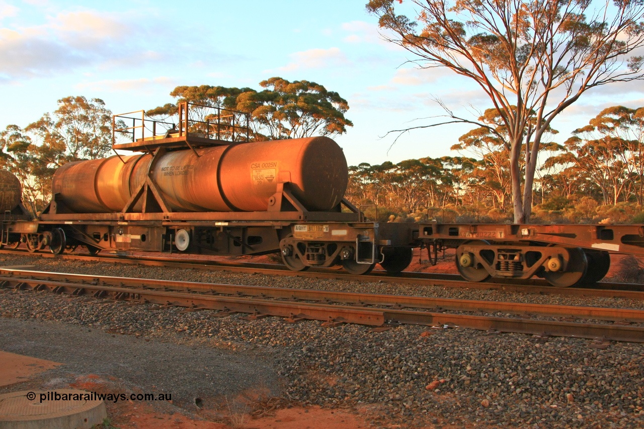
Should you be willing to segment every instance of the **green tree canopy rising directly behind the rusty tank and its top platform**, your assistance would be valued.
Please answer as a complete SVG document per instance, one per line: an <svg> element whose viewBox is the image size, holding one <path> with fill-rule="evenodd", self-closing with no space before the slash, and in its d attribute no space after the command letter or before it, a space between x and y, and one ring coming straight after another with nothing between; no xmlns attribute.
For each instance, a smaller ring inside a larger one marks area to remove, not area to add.
<svg viewBox="0 0 644 429"><path fill-rule="evenodd" d="M223 86L177 86L171 91L176 102L188 101L209 108L242 111L251 117L249 127L252 140L277 140L281 138L333 137L346 133L353 126L345 118L348 102L337 92L328 91L316 82L289 82L281 77L271 77L260 82L261 91L252 88L225 88ZM168 103L146 111L149 117L173 117L176 104ZM204 117L207 110L196 115ZM243 119L235 119L242 124Z"/></svg>

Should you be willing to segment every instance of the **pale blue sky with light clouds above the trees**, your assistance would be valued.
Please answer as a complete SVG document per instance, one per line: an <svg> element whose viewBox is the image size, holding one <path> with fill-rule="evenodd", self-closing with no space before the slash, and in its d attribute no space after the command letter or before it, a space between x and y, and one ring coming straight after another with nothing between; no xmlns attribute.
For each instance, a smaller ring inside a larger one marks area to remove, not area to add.
<svg viewBox="0 0 644 429"><path fill-rule="evenodd" d="M461 115L490 107L447 70L418 70L379 36L357 1L0 0L0 129L26 126L68 95L100 98L114 113L172 101L178 85L249 86L272 76L308 80L348 100L354 122L336 141L350 165L457 155L469 126L403 135L429 124L442 99ZM588 93L553 126L563 142L602 108L644 106L643 82ZM473 108L469 105L474 106Z"/></svg>

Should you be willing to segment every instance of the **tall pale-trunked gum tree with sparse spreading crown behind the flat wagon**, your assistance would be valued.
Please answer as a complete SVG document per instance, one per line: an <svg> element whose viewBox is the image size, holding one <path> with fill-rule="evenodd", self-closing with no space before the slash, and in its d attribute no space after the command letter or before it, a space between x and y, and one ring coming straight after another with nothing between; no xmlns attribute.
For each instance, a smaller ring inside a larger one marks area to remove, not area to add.
<svg viewBox="0 0 644 429"><path fill-rule="evenodd" d="M553 119L591 88L644 77L644 57L632 55L644 44L639 0L413 0L415 19L397 14L395 3L403 1L366 6L388 30L385 37L412 52L421 68L468 77L498 111L510 144L517 223L531 215L537 154ZM448 115L446 123L473 122Z"/></svg>

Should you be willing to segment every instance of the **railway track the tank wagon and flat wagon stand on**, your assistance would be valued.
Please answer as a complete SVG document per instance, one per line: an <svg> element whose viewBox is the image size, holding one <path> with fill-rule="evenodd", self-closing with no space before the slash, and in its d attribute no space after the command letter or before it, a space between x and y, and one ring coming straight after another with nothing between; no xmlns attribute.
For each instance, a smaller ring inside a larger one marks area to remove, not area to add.
<svg viewBox="0 0 644 429"><path fill-rule="evenodd" d="M0 254L32 255L43 258L62 258L66 260L84 260L110 263L130 263L156 267L171 267L182 269L203 269L209 271L251 272L253 274L269 274L284 276L300 276L308 278L332 278L350 281L380 281L387 283L402 283L410 285L429 285L440 287L467 287L470 289L497 290L506 292L525 292L531 294L556 294L562 296L585 296L600 298L625 298L629 300L644 300L644 285L631 283L601 282L587 287L553 287L544 280L531 279L523 281L484 281L472 283L464 281L457 274L437 274L426 272L401 272L395 276L384 271L372 271L370 274L354 276L341 270L290 271L287 267L269 263L220 262L213 260L180 260L178 258L156 258L150 256L131 256L118 254L62 254L27 253L21 250L0 250Z"/></svg>

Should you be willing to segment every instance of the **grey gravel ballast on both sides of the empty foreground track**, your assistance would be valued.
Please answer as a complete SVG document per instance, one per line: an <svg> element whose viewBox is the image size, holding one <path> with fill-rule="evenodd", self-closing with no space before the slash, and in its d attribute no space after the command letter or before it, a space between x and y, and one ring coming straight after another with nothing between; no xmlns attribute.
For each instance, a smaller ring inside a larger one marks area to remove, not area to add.
<svg viewBox="0 0 644 429"><path fill-rule="evenodd" d="M470 298L643 308L607 298L536 296L510 292L384 283L274 277L139 265L7 256L0 265L79 274L211 281ZM201 347L270 354L285 379L284 396L301 403L354 406L376 426L444 425L535 428L644 426L644 345L488 334L468 329L403 326L371 332L359 325L323 328L279 318L212 318L156 305L61 297L48 292L0 292L0 313L57 320L151 341L201 341Z"/></svg>

